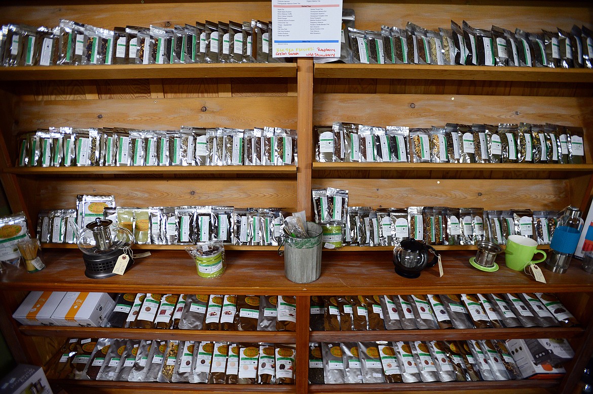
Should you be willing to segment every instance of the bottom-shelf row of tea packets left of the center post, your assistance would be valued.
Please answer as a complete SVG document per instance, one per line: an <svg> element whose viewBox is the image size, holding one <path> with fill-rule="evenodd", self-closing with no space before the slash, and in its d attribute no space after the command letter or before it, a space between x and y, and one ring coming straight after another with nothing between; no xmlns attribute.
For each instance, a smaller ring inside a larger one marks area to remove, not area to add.
<svg viewBox="0 0 593 394"><path fill-rule="evenodd" d="M160 339L68 339L52 379L161 383L294 384L294 345Z"/></svg>

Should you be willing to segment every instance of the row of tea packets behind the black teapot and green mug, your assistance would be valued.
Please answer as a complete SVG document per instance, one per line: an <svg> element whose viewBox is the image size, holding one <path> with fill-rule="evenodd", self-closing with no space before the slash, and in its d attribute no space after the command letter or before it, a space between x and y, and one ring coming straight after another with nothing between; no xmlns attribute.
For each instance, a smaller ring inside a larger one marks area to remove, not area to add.
<svg viewBox="0 0 593 394"><path fill-rule="evenodd" d="M538 244L549 244L556 229L556 211L530 209L484 210L483 208L348 206L348 191L314 189L315 223L329 227L342 245L396 246L415 238L431 245L476 245L486 239L504 245L509 235L524 235ZM328 233L324 229L324 233Z"/></svg>

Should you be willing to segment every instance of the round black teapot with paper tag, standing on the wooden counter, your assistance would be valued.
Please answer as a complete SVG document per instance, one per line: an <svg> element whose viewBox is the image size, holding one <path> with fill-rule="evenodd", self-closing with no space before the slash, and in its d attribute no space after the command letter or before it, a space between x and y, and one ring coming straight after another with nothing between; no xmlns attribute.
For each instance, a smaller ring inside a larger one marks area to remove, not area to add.
<svg viewBox="0 0 593 394"><path fill-rule="evenodd" d="M431 259L429 253L434 257ZM414 238L404 239L393 249L393 265L396 273L404 278L417 278L424 268L433 267L438 261L435 248Z"/></svg>

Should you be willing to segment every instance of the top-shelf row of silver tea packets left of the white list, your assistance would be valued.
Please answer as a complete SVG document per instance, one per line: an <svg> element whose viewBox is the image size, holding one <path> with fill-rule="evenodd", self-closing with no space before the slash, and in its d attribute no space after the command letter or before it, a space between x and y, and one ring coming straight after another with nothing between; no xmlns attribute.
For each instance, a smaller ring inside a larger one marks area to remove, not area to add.
<svg viewBox="0 0 593 394"><path fill-rule="evenodd" d="M4 66L169 63L278 63L272 22L205 21L195 25L115 27L60 20L55 28L8 24L0 31Z"/></svg>

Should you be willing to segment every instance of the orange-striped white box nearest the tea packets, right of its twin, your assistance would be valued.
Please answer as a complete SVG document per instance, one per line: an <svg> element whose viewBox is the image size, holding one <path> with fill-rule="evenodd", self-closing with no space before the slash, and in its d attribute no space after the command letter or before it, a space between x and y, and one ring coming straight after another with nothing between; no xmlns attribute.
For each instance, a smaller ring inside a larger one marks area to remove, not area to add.
<svg viewBox="0 0 593 394"><path fill-rule="evenodd" d="M99 327L114 306L107 293L68 292L53 312L52 320L60 326Z"/></svg>

